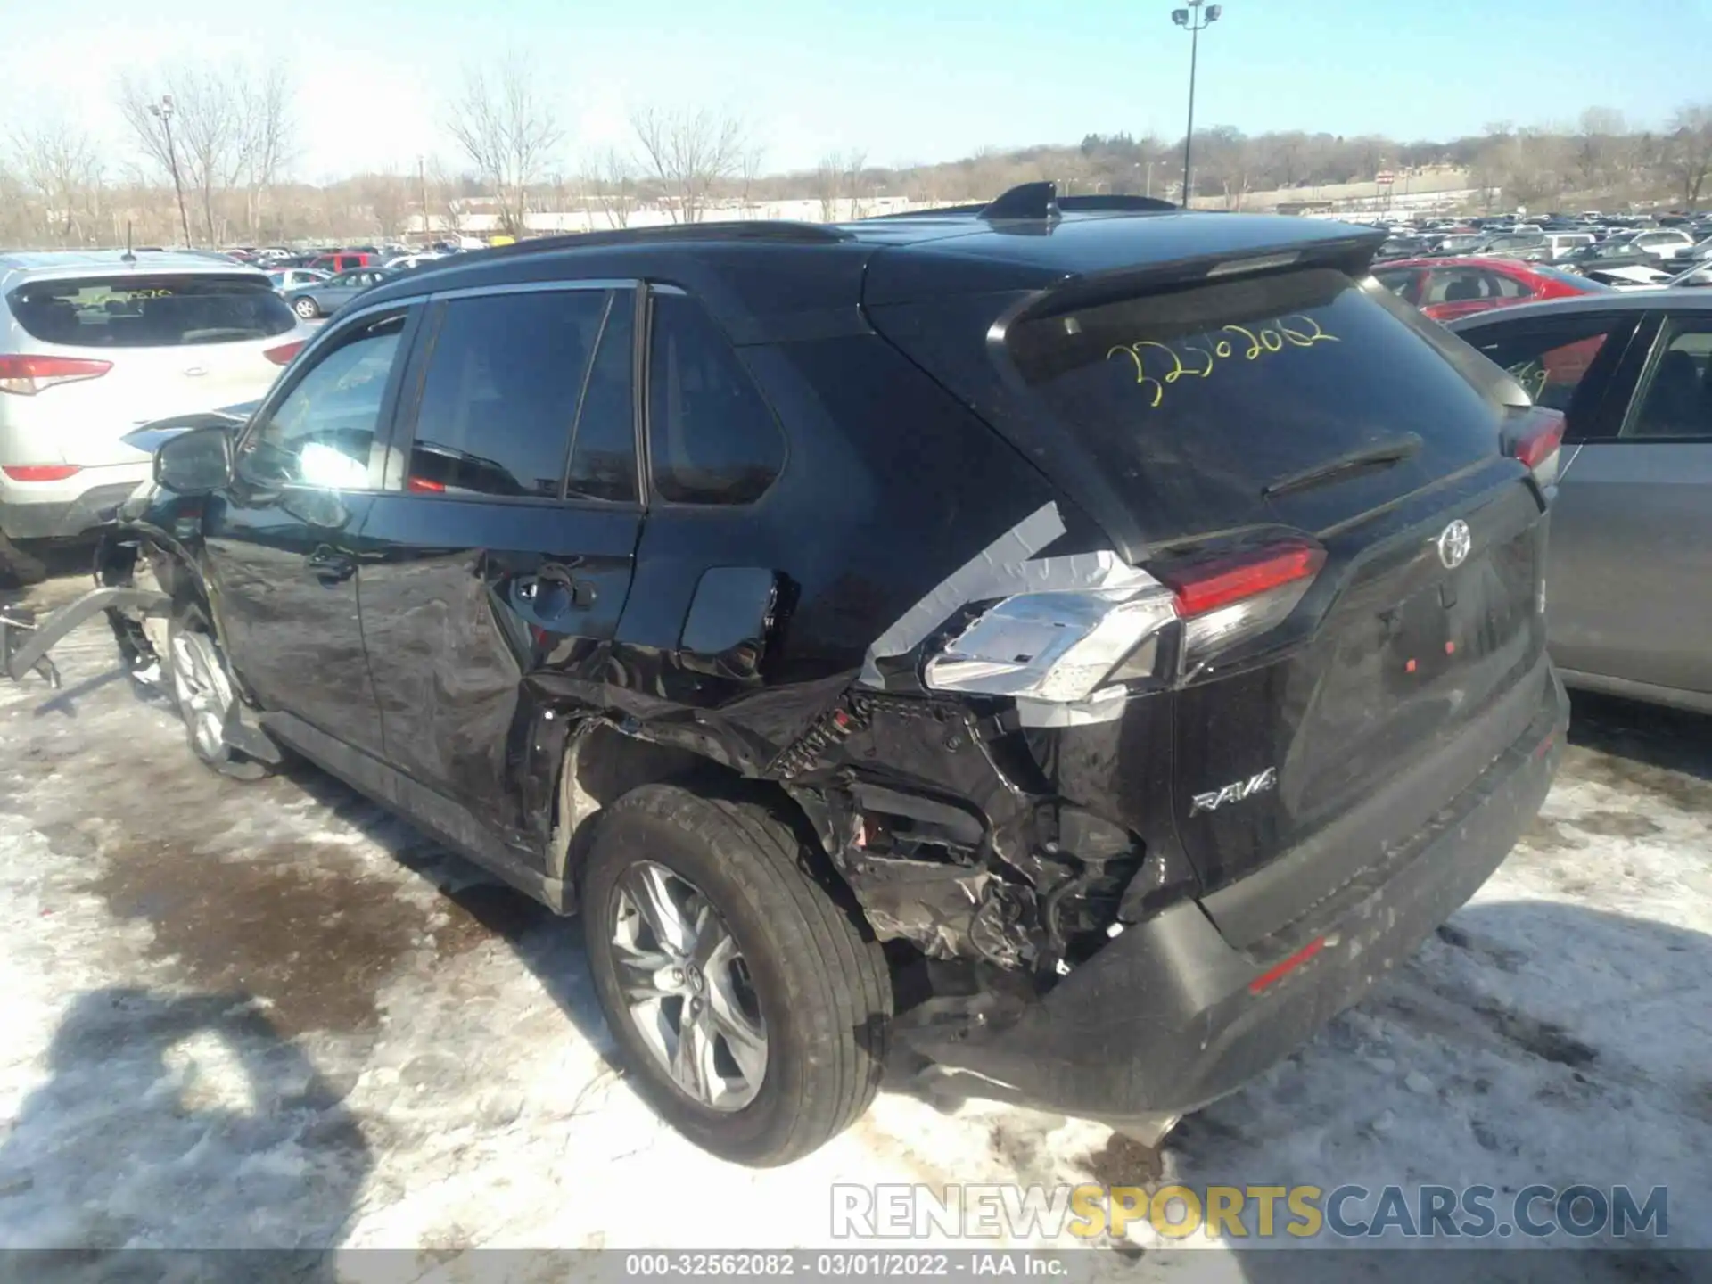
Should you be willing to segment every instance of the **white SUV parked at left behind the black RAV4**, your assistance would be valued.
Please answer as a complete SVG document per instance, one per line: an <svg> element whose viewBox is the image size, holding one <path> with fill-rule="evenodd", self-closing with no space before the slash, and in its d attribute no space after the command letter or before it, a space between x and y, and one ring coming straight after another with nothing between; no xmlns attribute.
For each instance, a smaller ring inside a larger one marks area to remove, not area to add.
<svg viewBox="0 0 1712 1284"><path fill-rule="evenodd" d="M0 253L0 532L101 526L149 476L125 433L255 401L310 334L262 272L214 259Z"/></svg>

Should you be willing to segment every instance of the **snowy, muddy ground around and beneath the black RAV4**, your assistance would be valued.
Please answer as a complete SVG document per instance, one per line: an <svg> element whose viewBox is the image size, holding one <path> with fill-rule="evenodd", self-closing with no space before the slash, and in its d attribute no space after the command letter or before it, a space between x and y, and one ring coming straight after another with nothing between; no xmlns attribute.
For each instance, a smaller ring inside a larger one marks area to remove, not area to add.
<svg viewBox="0 0 1712 1284"><path fill-rule="evenodd" d="M479 1246L825 1245L834 1181L1161 1174L1667 1185L1673 1246L1712 1246L1703 719L1590 705L1486 889L1161 1154L889 1085L820 1154L753 1173L608 1061L574 921L313 769L205 772L99 621L60 657L65 692L0 685L0 1246L392 1246L419 1253L404 1277L452 1279ZM1135 1246L1097 1274L1169 1272ZM1260 1281L1282 1257L1221 1260Z"/></svg>

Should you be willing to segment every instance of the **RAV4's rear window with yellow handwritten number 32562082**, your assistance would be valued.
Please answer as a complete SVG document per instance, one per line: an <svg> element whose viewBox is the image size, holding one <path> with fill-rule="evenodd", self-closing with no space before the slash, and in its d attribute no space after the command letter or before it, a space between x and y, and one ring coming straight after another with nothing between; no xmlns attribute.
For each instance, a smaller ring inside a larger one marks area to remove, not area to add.
<svg viewBox="0 0 1712 1284"><path fill-rule="evenodd" d="M1308 520L1301 505L1270 503L1269 488L1375 443L1421 438L1371 486L1315 490L1315 519L1496 450L1496 401L1406 315L1342 272L1310 269L1024 320L1010 351L1144 527L1188 536Z"/></svg>

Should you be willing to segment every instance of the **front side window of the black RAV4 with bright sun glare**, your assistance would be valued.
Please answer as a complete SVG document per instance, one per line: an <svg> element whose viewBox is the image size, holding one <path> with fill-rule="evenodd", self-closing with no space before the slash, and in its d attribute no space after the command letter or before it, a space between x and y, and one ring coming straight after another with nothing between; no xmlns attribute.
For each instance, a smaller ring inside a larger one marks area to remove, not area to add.
<svg viewBox="0 0 1712 1284"><path fill-rule="evenodd" d="M240 473L270 486L368 486L368 459L402 334L404 315L385 317L324 354L248 437Z"/></svg>

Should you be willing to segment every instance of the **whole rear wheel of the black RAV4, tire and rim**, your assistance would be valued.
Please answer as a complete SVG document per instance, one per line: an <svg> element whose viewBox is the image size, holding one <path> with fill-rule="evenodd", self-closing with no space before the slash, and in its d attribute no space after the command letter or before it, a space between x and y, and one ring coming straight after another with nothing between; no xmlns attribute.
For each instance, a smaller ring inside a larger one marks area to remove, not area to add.
<svg viewBox="0 0 1712 1284"><path fill-rule="evenodd" d="M740 1164L800 1159L854 1123L885 1065L880 947L753 801L635 789L584 871L594 990L637 1091Z"/></svg>

